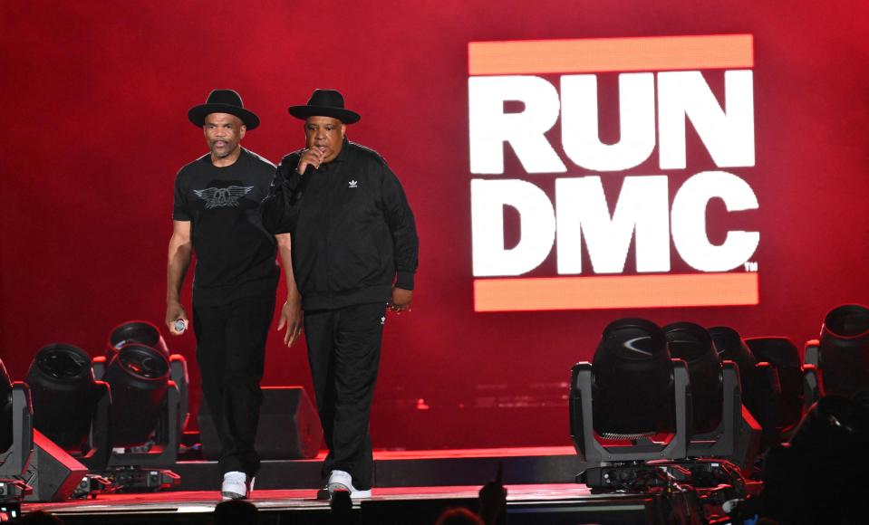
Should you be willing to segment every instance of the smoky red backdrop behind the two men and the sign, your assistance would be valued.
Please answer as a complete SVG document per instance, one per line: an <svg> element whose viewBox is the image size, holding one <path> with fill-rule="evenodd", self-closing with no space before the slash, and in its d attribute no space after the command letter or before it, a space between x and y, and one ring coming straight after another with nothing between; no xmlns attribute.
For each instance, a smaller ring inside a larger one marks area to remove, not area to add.
<svg viewBox="0 0 869 525"><path fill-rule="evenodd" d="M764 4L5 2L0 357L21 379L45 344L100 355L121 321L161 322L172 182L206 151L187 110L214 88L242 94L263 121L243 144L275 161L302 144L286 107L337 88L362 114L350 137L401 177L420 272L413 311L387 322L376 447L568 444L569 368L619 317L801 346L835 305L869 302L869 8ZM715 33L755 37L757 167L736 173L760 203L761 304L474 313L468 42ZM192 364L192 335L169 344ZM264 384L309 386L304 355L273 337Z"/></svg>

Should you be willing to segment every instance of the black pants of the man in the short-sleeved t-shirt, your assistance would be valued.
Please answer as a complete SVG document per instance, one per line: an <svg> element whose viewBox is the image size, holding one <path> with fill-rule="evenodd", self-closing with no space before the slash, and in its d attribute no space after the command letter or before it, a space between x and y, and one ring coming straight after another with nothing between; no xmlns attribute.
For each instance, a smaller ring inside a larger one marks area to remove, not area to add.
<svg viewBox="0 0 869 525"><path fill-rule="evenodd" d="M275 296L246 297L223 306L193 306L202 394L220 438L220 472L259 471L254 450L263 394L259 388Z"/></svg>

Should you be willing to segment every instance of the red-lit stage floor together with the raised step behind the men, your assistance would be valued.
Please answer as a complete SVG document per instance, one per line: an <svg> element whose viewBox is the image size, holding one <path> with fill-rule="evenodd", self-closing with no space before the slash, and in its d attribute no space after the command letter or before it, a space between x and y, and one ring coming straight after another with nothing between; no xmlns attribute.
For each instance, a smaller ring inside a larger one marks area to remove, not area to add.
<svg viewBox="0 0 869 525"><path fill-rule="evenodd" d="M323 454L311 460L264 461L251 501L260 523L325 523L329 504L316 499ZM583 470L573 447L439 451L378 451L370 500L354 501L358 522L431 524L450 507L477 510L478 491L500 467L511 525L655 522L657 498L649 494L592 493L575 483ZM171 470L181 482L165 492L101 493L92 500L25 502L65 523L208 523L219 502L217 463L185 461Z"/></svg>

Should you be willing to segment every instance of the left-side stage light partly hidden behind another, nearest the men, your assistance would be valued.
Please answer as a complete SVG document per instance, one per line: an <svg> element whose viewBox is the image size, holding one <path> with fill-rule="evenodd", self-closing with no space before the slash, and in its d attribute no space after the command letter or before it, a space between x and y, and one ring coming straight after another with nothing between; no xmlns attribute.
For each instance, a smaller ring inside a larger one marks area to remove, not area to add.
<svg viewBox="0 0 869 525"><path fill-rule="evenodd" d="M154 348L166 356L166 358L169 358L170 377L175 381L175 386L179 389L181 399L181 431L183 432L189 419L188 385L190 381L188 378L187 361L182 356L169 352L166 340L160 335L157 325L147 320L128 320L112 329L109 334L109 340L106 343L106 361L111 362L111 359L118 354L121 348L130 344Z"/></svg>

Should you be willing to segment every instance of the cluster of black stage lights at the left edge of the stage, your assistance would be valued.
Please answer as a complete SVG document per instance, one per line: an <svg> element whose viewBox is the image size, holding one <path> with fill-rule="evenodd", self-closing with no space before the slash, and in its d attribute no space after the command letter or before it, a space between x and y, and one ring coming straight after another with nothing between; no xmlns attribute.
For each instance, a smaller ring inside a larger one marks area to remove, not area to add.
<svg viewBox="0 0 869 525"><path fill-rule="evenodd" d="M165 469L178 459L187 394L185 359L170 354L147 321L113 329L105 356L91 358L69 344L43 347L23 382L12 381L0 361L0 485L5 480L10 491L30 493L26 501L63 501L106 487L177 484L177 474ZM64 457L53 459L70 472L40 493L34 463L58 447L53 455Z"/></svg>

